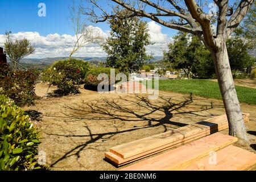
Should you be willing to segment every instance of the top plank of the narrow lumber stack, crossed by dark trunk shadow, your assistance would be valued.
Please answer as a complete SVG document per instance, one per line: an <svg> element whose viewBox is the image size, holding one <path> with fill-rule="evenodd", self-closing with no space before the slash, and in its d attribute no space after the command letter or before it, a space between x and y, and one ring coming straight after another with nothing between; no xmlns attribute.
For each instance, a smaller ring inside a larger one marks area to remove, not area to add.
<svg viewBox="0 0 256 182"><path fill-rule="evenodd" d="M247 121L247 114L244 115L244 118L245 121ZM159 148L178 140L191 137L192 135L207 131L209 129L212 130L212 133L215 133L216 130L214 130L214 128L218 127L218 125L224 125L225 123L228 123L228 120L224 114L205 121L197 122L193 125L183 126L176 130L167 131L166 133L111 147L109 151L123 159L126 159L130 158L131 156L150 151L154 148Z"/></svg>

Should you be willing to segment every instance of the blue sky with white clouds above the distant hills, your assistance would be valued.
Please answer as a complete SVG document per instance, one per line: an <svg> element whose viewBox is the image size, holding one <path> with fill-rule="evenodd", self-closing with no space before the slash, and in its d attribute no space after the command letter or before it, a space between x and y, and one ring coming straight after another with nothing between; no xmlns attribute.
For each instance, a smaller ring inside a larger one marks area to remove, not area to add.
<svg viewBox="0 0 256 182"><path fill-rule="evenodd" d="M107 1L99 0L98 2L107 8ZM229 2L233 3L234 1L236 0ZM79 3L80 0L75 2ZM39 3L45 3L46 17L38 16ZM72 49L72 42L75 42L68 9L72 3L72 0L1 0L0 47L5 42L5 32L12 31L15 38L27 38L35 46L36 52L30 57L68 56ZM151 41L155 42L153 46L147 47L147 52L154 53L155 56L162 56L163 50L167 49L167 44L176 31L160 26L149 19L145 20L149 25ZM107 23L97 23L93 26L100 28L102 36L108 36L110 28ZM106 55L99 45L89 45L77 52L75 56L102 57Z"/></svg>

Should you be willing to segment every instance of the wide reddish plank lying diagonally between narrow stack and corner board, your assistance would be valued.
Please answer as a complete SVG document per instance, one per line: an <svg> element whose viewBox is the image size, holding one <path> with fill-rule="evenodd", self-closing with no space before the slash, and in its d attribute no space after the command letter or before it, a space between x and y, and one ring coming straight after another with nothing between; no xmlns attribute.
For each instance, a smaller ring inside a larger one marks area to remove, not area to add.
<svg viewBox="0 0 256 182"><path fill-rule="evenodd" d="M220 150L237 142L236 137L215 133L164 154L154 156L140 163L121 169L122 171L168 171L178 170L195 162L209 152Z"/></svg>

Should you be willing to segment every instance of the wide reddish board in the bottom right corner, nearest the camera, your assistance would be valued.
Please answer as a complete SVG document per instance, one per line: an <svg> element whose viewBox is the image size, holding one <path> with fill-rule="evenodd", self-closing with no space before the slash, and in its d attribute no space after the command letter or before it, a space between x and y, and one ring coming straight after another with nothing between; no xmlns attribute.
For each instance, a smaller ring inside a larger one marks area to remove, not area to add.
<svg viewBox="0 0 256 182"><path fill-rule="evenodd" d="M182 171L241 171L256 163L256 154L230 145L216 152L216 162L213 156L205 156ZM210 161L210 162L209 162Z"/></svg>

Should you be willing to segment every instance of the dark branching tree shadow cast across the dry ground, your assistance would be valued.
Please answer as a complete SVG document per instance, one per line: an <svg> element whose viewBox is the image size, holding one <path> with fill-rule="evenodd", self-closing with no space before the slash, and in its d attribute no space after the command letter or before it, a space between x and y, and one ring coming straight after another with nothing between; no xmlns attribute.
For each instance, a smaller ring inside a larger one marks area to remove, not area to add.
<svg viewBox="0 0 256 182"><path fill-rule="evenodd" d="M161 103L159 105L159 102ZM133 107L128 107L132 105ZM189 106L189 108L184 109L184 107ZM216 108L216 106L214 106ZM217 106L222 107L222 106ZM86 149L98 150L97 146L88 146L91 143L99 143L98 146L104 146L104 142L113 138L115 135L129 133L130 131L148 129L151 127L162 126L164 132L167 131L166 125L172 125L175 127L186 126L187 124L172 121L174 115L190 114L200 117L212 117L212 114L201 115L201 111L213 109L213 104L210 102L209 105L199 105L193 104L192 95L188 98L184 97L181 101L172 101L172 98L158 98L157 102L151 102L147 97L142 97L137 95L135 100L130 98L119 97L118 99L105 99L96 102L76 104L75 106L65 106L65 112L62 112L63 117L48 116L61 119L67 119L65 122L84 122L84 127L88 131L86 135L76 135L73 131L68 131L71 135L61 135L54 133L46 133L47 135L55 135L60 137L89 137L84 143L77 144L76 147L71 148L71 150L65 152L63 156L57 159L50 167L55 166L61 160L67 159L73 155L80 158L80 152ZM162 114L161 114L162 113ZM158 117L156 117L158 115ZM102 121L102 127L108 127L111 124L115 131L96 133L94 134L89 128L87 122L89 121ZM142 126L134 126L129 129L121 129L120 126L115 126L117 121L121 122L144 122ZM63 126L61 129L65 130ZM75 143L75 142L74 142ZM105 151L105 150L104 150ZM104 152L102 151L102 152Z"/></svg>

